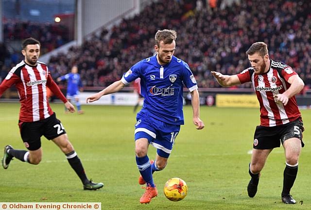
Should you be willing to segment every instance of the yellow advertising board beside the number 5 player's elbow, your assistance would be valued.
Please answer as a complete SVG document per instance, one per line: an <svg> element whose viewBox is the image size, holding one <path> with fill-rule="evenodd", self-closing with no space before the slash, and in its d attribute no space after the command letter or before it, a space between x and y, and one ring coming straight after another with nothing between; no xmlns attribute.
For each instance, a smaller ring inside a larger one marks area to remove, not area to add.
<svg viewBox="0 0 311 210"><path fill-rule="evenodd" d="M259 108L255 94L216 94L217 107Z"/></svg>

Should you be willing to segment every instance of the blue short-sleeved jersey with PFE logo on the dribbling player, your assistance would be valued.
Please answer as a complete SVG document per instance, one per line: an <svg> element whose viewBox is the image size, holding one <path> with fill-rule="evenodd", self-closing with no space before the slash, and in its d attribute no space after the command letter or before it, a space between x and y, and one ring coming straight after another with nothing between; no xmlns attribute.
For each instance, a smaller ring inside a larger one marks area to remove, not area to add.
<svg viewBox="0 0 311 210"><path fill-rule="evenodd" d="M169 124L183 125L183 85L191 92L198 89L189 65L175 56L169 64L159 65L155 55L133 65L121 81L128 84L137 78L144 97L140 112Z"/></svg>

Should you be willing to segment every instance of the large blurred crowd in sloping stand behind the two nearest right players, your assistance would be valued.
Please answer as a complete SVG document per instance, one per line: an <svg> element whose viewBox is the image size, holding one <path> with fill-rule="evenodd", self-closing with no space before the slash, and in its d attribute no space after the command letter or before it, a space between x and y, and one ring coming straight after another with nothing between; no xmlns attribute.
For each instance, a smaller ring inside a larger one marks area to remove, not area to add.
<svg viewBox="0 0 311 210"><path fill-rule="evenodd" d="M272 59L291 65L311 85L311 1L241 0L224 8L211 8L202 0L187 2L192 1L159 0L111 30L93 34L82 46L52 57L53 78L78 65L85 86L107 86L152 56L155 32L168 28L178 33L175 56L189 63L200 87L219 87L210 71L233 74L248 67L245 51L257 41L267 43Z"/></svg>

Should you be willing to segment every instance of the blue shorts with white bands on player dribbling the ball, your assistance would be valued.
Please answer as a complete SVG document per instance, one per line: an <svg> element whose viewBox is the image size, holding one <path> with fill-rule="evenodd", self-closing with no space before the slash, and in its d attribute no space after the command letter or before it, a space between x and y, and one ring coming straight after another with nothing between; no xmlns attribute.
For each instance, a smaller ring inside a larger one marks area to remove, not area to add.
<svg viewBox="0 0 311 210"><path fill-rule="evenodd" d="M149 144L157 148L159 156L168 158L172 152L180 125L169 124L141 112L137 114L136 119L135 140L148 139Z"/></svg>

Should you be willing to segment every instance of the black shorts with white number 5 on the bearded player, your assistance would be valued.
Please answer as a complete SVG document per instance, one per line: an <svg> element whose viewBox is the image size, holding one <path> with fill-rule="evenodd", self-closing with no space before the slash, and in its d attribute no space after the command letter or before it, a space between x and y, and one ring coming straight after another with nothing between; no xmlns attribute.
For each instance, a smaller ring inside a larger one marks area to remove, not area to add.
<svg viewBox="0 0 311 210"><path fill-rule="evenodd" d="M304 131L301 117L284 125L274 127L257 126L254 134L254 149L273 149L280 147L280 142L290 138L301 140L301 146L305 144L302 141L302 132Z"/></svg>

